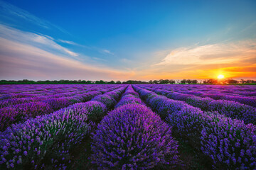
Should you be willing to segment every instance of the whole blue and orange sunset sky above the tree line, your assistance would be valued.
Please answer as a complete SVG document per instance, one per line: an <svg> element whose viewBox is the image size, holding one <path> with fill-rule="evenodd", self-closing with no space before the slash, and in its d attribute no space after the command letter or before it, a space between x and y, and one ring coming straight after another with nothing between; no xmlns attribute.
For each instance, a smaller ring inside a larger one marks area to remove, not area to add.
<svg viewBox="0 0 256 170"><path fill-rule="evenodd" d="M256 79L256 1L0 0L0 79Z"/></svg>

